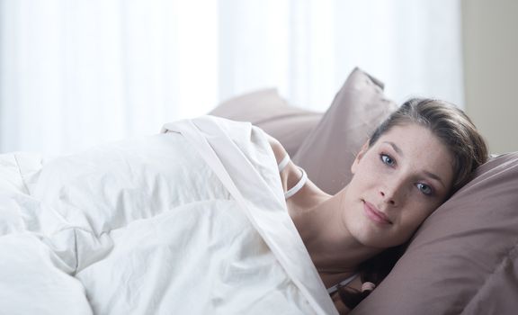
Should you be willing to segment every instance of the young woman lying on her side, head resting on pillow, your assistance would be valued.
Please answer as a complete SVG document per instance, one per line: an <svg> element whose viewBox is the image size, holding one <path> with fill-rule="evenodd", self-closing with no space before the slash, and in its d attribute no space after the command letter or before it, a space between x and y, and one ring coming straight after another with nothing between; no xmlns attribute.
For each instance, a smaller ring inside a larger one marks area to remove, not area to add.
<svg viewBox="0 0 518 315"><path fill-rule="evenodd" d="M321 191L275 139L290 217L337 309L345 313L388 274L419 225L487 161L466 114L412 99L374 131L335 195Z"/></svg>

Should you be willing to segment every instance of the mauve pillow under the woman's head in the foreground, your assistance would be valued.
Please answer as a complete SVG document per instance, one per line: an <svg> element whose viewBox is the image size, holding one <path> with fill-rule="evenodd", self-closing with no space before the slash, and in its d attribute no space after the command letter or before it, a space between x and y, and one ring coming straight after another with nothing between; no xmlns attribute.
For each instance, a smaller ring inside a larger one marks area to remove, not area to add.
<svg viewBox="0 0 518 315"><path fill-rule="evenodd" d="M424 221L388 277L352 314L509 314L518 310L518 152Z"/></svg>

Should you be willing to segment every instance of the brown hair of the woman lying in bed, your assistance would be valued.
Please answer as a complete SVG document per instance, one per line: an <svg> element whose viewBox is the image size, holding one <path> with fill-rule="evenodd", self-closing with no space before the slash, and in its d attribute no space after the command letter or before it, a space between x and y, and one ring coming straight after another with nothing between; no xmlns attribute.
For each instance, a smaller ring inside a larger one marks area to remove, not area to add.
<svg viewBox="0 0 518 315"><path fill-rule="evenodd" d="M369 139L369 147L392 127L411 123L428 128L450 149L454 157L450 195L468 183L473 171L487 161L486 141L466 113L451 103L433 99L413 98L403 103L374 130ZM362 282L380 284L397 259L403 255L405 248L406 244L388 248L380 255L363 262L359 272ZM342 301L350 309L362 302L369 293L347 287L340 287L338 290Z"/></svg>

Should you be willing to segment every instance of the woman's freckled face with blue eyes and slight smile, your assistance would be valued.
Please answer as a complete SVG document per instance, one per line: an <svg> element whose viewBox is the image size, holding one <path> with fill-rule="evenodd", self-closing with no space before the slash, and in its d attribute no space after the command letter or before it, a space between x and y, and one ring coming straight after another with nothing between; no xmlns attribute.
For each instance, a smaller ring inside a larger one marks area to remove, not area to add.
<svg viewBox="0 0 518 315"><path fill-rule="evenodd" d="M344 192L344 224L368 247L404 243L446 199L453 180L451 153L417 124L395 126L364 146Z"/></svg>

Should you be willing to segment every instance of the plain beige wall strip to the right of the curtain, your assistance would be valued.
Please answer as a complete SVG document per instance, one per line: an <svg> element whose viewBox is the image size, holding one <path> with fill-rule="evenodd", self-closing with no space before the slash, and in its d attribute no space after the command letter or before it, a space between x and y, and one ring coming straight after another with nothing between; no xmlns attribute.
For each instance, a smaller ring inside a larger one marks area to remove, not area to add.
<svg viewBox="0 0 518 315"><path fill-rule="evenodd" d="M466 112L492 153L518 151L518 1L461 6Z"/></svg>

